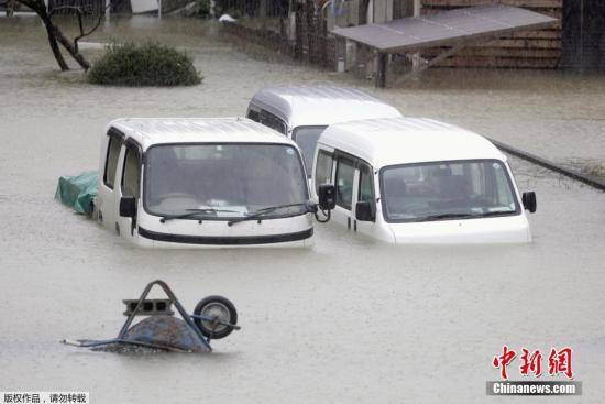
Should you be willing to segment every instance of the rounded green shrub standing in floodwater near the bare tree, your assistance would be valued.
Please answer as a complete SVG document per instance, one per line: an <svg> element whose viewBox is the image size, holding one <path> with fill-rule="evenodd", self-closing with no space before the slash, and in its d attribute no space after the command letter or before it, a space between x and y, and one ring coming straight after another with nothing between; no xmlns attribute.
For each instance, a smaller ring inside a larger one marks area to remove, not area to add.
<svg viewBox="0 0 605 404"><path fill-rule="evenodd" d="M108 45L87 78L92 84L141 87L191 86L202 77L187 53L148 42Z"/></svg>

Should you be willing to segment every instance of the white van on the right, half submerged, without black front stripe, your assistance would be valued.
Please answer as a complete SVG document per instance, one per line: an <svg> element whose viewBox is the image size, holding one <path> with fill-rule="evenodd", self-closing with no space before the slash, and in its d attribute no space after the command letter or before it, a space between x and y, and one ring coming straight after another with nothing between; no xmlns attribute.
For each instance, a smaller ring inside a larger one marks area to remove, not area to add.
<svg viewBox="0 0 605 404"><path fill-rule="evenodd" d="M506 156L488 140L430 119L330 125L319 138L314 193L336 185L332 221L393 243L529 242Z"/></svg>

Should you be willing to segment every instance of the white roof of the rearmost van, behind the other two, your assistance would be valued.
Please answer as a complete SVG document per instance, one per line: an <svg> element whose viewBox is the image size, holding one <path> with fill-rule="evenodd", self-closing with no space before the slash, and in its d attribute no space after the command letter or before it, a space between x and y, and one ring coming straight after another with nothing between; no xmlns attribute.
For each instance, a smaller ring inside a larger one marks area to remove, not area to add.
<svg viewBox="0 0 605 404"><path fill-rule="evenodd" d="M282 118L290 129L402 116L395 107L348 87L266 87L257 91L251 102Z"/></svg>

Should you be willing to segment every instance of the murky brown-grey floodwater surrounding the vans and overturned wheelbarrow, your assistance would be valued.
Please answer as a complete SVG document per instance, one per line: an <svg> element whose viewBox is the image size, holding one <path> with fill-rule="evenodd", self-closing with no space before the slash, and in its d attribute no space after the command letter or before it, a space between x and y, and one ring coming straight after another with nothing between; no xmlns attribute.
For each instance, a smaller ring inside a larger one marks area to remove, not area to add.
<svg viewBox="0 0 605 404"><path fill-rule="evenodd" d="M524 161L512 166L519 189L538 195L529 245L392 247L316 223L308 250L150 251L53 199L61 175L97 170L110 120L244 114L252 95L275 84L355 86L404 114L572 166L604 164L603 76L437 70L376 91L240 52L216 31L153 18L105 26L86 42L153 36L189 50L205 76L195 87L116 88L58 73L33 17L0 18L0 390L89 391L92 403L508 403L522 397L485 396L503 345L570 346L583 395L563 400L603 401L605 193ZM155 279L189 310L207 295L228 296L242 330L207 356L58 343L116 336L121 301Z"/></svg>

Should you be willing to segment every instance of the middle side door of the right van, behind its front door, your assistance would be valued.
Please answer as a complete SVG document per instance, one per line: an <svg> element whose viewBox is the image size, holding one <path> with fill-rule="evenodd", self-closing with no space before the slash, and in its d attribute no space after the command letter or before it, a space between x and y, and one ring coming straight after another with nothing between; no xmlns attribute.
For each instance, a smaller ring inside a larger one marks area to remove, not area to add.
<svg viewBox="0 0 605 404"><path fill-rule="evenodd" d="M353 223L353 195L356 195L355 162L353 159L337 154L337 172L334 185L337 188L337 207L332 210L332 220L351 229Z"/></svg>

